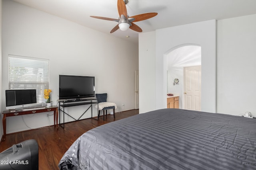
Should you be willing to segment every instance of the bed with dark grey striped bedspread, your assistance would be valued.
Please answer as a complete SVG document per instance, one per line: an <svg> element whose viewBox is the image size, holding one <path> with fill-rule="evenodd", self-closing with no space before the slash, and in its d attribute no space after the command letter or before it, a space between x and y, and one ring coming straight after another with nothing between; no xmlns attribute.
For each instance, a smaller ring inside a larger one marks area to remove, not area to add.
<svg viewBox="0 0 256 170"><path fill-rule="evenodd" d="M255 170L256 119L159 109L87 131L60 169Z"/></svg>

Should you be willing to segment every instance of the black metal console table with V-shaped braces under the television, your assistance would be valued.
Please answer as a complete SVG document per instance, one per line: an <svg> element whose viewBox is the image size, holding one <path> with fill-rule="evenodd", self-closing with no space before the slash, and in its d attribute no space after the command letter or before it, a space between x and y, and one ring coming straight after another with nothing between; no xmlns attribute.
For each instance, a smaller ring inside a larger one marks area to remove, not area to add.
<svg viewBox="0 0 256 170"><path fill-rule="evenodd" d="M72 119L74 119L75 121L78 121L84 115L84 113L86 113L86 111L88 111L90 108L91 108L91 113L92 113L92 104L97 104L97 102L93 102L94 100L97 100L97 99L96 98L87 98L87 99L80 99L80 100L60 101L59 114L61 112L63 113L63 123L60 123L60 116L59 116L59 125L61 127L65 128L65 119L64 119L65 114L68 115L69 117L71 117ZM81 105L90 105L90 106L86 109L86 111L84 111L84 113L78 119L75 119L74 117L72 117L71 115L69 115L68 113L65 112L65 107L81 106ZM94 117L91 116L91 118L94 118ZM63 126L62 126L62 124L63 124Z"/></svg>

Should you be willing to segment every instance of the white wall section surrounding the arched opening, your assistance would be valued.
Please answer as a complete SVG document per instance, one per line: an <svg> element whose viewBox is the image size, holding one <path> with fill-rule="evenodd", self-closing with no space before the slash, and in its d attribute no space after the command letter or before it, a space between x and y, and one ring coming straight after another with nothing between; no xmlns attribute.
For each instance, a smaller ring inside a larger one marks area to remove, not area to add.
<svg viewBox="0 0 256 170"><path fill-rule="evenodd" d="M147 63L139 65L140 84L151 84L145 76L156 76L152 78L154 86L150 85L146 92L140 89L140 98L144 98L140 113L166 108L166 54L183 44L196 44L202 48L202 111L216 112L216 20L158 29L155 41L152 35L154 33L141 33L139 36L139 62ZM150 61L155 60L155 63L148 62L143 47L156 51L156 55L150 54ZM143 69L151 74L141 74ZM152 103L155 105L150 106Z"/></svg>

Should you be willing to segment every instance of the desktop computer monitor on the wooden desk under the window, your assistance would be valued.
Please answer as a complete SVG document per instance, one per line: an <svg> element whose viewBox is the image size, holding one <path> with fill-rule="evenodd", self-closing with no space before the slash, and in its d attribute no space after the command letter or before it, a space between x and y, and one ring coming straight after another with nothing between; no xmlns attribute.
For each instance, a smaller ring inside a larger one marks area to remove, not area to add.
<svg viewBox="0 0 256 170"><path fill-rule="evenodd" d="M6 109L36 105L36 90L5 90Z"/></svg>

